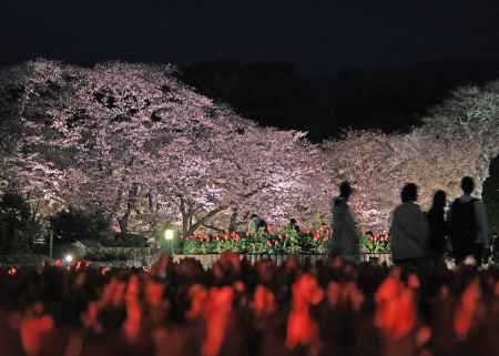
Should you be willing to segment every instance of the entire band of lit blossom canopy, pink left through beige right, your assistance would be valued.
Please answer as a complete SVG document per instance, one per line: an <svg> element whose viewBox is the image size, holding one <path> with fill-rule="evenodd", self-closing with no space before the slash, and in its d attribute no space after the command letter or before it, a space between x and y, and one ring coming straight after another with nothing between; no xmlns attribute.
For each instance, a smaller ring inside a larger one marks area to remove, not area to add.
<svg viewBox="0 0 499 356"><path fill-rule="evenodd" d="M348 131L323 144L264 128L179 80L171 65L79 68L37 60L0 73L0 179L48 213L95 206L122 231L181 222L228 228L329 218L349 180L363 228L385 231L406 182L429 205L438 189L481 184L499 153L499 82L457 90L404 133Z"/></svg>

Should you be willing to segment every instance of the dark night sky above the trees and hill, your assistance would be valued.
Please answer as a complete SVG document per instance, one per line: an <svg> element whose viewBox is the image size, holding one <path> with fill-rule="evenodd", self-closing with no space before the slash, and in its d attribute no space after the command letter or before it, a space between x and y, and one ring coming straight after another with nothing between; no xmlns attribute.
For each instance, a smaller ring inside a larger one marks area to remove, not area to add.
<svg viewBox="0 0 499 356"><path fill-rule="evenodd" d="M1 0L0 65L33 57L398 68L499 58L497 0Z"/></svg>

